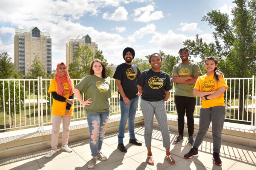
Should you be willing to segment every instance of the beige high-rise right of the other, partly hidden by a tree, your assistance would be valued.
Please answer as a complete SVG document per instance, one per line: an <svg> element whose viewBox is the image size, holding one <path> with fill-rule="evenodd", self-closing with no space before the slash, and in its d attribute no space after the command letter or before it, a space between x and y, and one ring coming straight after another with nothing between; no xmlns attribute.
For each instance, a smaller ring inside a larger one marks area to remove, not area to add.
<svg viewBox="0 0 256 170"><path fill-rule="evenodd" d="M69 66L70 63L74 61L74 54L78 46L80 45L88 45L93 51L93 55L95 55L95 51L98 50L98 44L91 41L90 36L87 35L79 35L78 37L75 36L68 36L67 43L66 43L66 64Z"/></svg>

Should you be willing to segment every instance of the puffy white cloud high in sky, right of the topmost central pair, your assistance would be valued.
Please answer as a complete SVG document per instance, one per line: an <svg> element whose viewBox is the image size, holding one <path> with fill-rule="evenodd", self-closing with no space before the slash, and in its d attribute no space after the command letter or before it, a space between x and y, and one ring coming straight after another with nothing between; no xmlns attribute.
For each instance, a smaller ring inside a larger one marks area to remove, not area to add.
<svg viewBox="0 0 256 170"><path fill-rule="evenodd" d="M148 23L150 21L160 20L163 18L163 12L162 11L154 11L153 5L148 5L145 7L137 8L134 10L133 16L139 16L134 19L134 21L142 22L142 23ZM151 13L152 12L152 13Z"/></svg>

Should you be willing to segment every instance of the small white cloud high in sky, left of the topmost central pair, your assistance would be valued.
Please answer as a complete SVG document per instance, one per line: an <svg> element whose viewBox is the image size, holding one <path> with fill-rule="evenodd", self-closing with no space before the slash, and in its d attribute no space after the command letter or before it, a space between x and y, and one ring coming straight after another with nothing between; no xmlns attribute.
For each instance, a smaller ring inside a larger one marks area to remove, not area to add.
<svg viewBox="0 0 256 170"><path fill-rule="evenodd" d="M123 6L120 6L116 9L116 11L109 15L108 12L105 12L102 15L102 18L105 20L111 20L111 21L126 21L128 20L128 12Z"/></svg>

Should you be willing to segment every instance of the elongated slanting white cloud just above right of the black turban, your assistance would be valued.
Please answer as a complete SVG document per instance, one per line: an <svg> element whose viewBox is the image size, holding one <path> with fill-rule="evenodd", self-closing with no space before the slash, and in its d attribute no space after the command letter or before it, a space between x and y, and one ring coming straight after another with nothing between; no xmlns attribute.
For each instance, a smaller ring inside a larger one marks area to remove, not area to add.
<svg viewBox="0 0 256 170"><path fill-rule="evenodd" d="M155 24L148 24L146 27L142 27L136 32L133 33L133 35L128 36L129 42L135 42L136 39L141 39L145 35L154 34L155 33Z"/></svg>

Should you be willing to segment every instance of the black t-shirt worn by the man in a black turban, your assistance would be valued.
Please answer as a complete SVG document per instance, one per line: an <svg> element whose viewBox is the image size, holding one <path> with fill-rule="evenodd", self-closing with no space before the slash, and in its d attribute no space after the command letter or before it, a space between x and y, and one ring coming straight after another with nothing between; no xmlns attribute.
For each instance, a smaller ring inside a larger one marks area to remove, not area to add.
<svg viewBox="0 0 256 170"><path fill-rule="evenodd" d="M125 93L125 96L129 99L134 99L136 98L136 94L138 93L136 81L139 76L140 70L136 65L128 65L122 63L117 66L113 78L121 81L121 85L123 87L123 92ZM121 95L120 100L123 100L123 97Z"/></svg>

